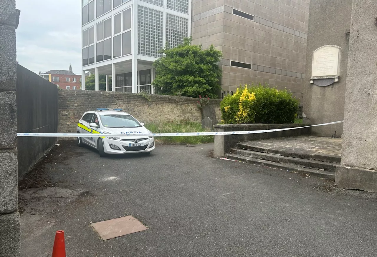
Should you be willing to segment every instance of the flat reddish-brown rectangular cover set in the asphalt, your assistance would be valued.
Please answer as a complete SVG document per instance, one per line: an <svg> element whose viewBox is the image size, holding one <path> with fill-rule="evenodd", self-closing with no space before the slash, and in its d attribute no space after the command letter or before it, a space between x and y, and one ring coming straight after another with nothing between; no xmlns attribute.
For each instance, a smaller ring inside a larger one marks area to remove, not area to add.
<svg viewBox="0 0 377 257"><path fill-rule="evenodd" d="M146 230L144 226L135 217L129 215L108 221L101 221L91 224L103 240L124 236L135 232Z"/></svg>

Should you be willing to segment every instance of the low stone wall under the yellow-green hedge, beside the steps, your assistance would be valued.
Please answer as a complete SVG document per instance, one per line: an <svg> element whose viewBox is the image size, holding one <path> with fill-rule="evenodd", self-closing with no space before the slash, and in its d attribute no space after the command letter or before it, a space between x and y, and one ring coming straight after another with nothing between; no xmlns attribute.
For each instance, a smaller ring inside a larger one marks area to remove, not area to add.
<svg viewBox="0 0 377 257"><path fill-rule="evenodd" d="M282 128L298 128L276 132L264 132L255 134L239 134L239 135L215 135L215 144L213 146L213 157L224 157L235 147L238 142L253 141L279 137L296 137L301 135L310 135L310 124L218 124L214 125L215 132L224 131L250 131L264 129L282 129Z"/></svg>

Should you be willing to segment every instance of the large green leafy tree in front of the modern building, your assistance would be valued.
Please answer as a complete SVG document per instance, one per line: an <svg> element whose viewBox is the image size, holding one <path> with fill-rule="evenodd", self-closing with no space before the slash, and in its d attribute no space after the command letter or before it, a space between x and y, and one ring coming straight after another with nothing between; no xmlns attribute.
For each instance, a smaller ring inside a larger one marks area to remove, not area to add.
<svg viewBox="0 0 377 257"><path fill-rule="evenodd" d="M192 46L191 41L192 36L185 38L183 45L161 50L161 58L153 63L156 68L153 81L156 93L218 98L221 69L217 63L222 57L221 51L213 45L202 50L201 45Z"/></svg>

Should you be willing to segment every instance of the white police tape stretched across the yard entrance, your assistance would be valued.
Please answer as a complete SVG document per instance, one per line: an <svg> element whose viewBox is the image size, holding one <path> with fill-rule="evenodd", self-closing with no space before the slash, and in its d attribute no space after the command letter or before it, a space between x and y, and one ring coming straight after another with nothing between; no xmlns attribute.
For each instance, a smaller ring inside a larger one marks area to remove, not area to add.
<svg viewBox="0 0 377 257"><path fill-rule="evenodd" d="M153 134L92 134L92 133L17 133L17 137L132 137L132 136L148 136L148 137L179 137L179 136L198 136L198 135L239 135L239 134L257 134L266 132L285 131L291 129L309 128L315 126L325 126L338 122L329 122L317 125L302 126L295 128L282 129L264 129L264 130L248 130L248 131L222 131L222 132L187 132L187 133L153 133Z"/></svg>

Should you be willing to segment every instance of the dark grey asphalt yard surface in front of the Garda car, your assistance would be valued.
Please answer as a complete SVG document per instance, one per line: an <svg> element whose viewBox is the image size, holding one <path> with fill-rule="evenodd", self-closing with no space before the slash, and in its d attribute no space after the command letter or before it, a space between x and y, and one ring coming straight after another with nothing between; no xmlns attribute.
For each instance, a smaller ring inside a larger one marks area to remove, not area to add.
<svg viewBox="0 0 377 257"><path fill-rule="evenodd" d="M19 182L21 256L374 256L372 193L211 158L213 144L100 158L61 141ZM132 215L147 230L103 240L90 225Z"/></svg>

